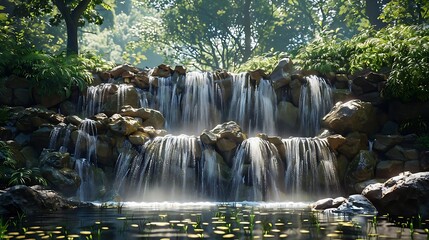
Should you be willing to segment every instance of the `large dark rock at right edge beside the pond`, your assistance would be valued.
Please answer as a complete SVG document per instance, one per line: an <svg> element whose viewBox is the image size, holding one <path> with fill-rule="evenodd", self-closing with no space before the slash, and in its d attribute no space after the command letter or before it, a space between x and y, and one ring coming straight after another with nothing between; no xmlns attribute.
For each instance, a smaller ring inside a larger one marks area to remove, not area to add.
<svg viewBox="0 0 429 240"><path fill-rule="evenodd" d="M429 217L429 172L405 172L383 184L372 184L362 194L382 213Z"/></svg>

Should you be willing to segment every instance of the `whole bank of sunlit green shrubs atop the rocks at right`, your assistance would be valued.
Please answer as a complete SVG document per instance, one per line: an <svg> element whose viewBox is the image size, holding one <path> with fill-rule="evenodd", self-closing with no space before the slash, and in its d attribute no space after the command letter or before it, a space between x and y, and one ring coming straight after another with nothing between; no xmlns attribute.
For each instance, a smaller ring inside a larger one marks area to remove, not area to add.
<svg viewBox="0 0 429 240"><path fill-rule="evenodd" d="M393 26L342 39L333 31L320 34L298 51L298 68L328 72L369 69L390 73L385 98L429 100L429 30Z"/></svg>

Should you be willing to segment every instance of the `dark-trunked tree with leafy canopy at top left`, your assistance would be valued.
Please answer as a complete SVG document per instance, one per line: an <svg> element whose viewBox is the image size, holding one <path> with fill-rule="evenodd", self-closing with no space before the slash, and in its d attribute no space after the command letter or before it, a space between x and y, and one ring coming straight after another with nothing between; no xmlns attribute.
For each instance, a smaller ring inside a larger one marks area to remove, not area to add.
<svg viewBox="0 0 429 240"><path fill-rule="evenodd" d="M53 14L51 24L58 25L62 20L67 31L67 55L78 54L78 28L88 23L102 24L103 18L97 12L97 6L111 9L105 0L11 0L15 14L35 18Z"/></svg>

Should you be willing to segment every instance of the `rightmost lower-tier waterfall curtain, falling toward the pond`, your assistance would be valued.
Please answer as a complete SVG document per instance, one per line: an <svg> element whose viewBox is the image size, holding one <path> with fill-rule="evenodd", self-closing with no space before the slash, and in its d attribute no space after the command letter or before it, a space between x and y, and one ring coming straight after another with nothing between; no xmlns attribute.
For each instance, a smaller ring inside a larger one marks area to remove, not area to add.
<svg viewBox="0 0 429 240"><path fill-rule="evenodd" d="M334 161L328 142L318 138L283 139L286 162L286 191L295 198L333 194L339 191Z"/></svg>

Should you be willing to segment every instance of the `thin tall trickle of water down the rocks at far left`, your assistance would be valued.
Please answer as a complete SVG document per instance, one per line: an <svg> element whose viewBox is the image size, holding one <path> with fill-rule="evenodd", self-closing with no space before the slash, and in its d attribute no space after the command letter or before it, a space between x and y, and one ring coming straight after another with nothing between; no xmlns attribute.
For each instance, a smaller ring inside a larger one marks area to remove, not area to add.
<svg viewBox="0 0 429 240"><path fill-rule="evenodd" d="M94 166L96 161L97 128L95 121L85 119L79 125L75 145L75 169L81 179L77 197L81 201L92 200L94 196Z"/></svg>

